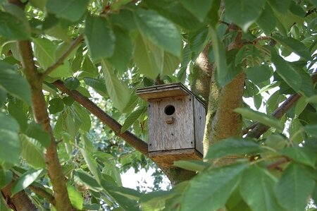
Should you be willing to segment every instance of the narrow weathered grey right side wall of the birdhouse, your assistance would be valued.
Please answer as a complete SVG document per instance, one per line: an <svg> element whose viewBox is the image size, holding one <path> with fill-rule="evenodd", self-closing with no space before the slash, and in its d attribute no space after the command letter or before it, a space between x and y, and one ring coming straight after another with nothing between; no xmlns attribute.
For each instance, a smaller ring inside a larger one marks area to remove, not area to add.
<svg viewBox="0 0 317 211"><path fill-rule="evenodd" d="M206 110L203 104L194 97L194 123L195 123L195 148L204 155L204 130L206 123Z"/></svg>

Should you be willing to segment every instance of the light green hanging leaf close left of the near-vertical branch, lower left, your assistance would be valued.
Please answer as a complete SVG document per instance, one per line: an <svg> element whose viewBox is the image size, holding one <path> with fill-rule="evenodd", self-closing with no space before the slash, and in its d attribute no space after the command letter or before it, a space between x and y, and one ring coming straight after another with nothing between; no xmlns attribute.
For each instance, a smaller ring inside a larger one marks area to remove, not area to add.
<svg viewBox="0 0 317 211"><path fill-rule="evenodd" d="M35 139L28 138L26 135L20 135L20 140L22 158L34 169L44 169L46 165L41 144Z"/></svg>

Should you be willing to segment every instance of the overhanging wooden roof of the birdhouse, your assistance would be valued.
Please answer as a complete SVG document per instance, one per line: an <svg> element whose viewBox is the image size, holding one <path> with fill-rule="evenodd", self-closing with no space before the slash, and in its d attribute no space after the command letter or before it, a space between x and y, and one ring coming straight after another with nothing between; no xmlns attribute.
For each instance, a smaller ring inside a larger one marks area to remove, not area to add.
<svg viewBox="0 0 317 211"><path fill-rule="evenodd" d="M182 83L169 83L163 85L154 85L147 88L140 88L137 89L137 95L139 95L139 97L141 97L145 101L149 101L151 99L180 97L188 95L193 95L194 97L196 97ZM201 102L201 100L198 97L196 98Z"/></svg>

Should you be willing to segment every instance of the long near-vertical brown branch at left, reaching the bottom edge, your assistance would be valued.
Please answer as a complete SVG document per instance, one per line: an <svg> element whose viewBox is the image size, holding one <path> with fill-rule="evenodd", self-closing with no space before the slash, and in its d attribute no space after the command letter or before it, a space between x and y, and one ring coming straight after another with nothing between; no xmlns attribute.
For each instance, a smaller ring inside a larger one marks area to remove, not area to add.
<svg viewBox="0 0 317 211"><path fill-rule="evenodd" d="M51 184L54 190L56 210L73 210L68 197L68 191L66 189L66 179L63 176L61 164L58 160L55 138L52 133L46 101L42 92L42 76L35 67L31 43L29 41L19 41L18 48L20 56L22 57L22 65L25 76L31 88L32 110L35 116L35 121L42 125L44 131L49 133L51 138L49 147L46 147L45 159L49 178L51 179Z"/></svg>

